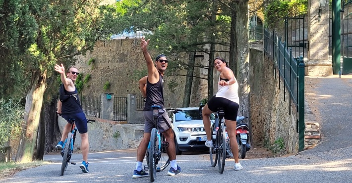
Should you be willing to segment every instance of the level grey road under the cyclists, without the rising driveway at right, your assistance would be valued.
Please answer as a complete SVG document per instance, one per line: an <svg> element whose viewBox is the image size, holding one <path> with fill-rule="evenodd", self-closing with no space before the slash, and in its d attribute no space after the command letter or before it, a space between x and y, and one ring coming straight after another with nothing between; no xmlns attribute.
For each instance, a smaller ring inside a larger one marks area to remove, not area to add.
<svg viewBox="0 0 352 183"><path fill-rule="evenodd" d="M178 156L181 175L170 177L166 171L157 173L155 183L306 183L306 182L352 182L352 148L345 147L315 155L241 160L244 169L234 171L233 160L226 162L223 174L210 166L207 154ZM57 161L15 174L1 183L148 183L149 178L132 179L135 168L135 150L91 153L89 170L83 174L78 165L69 165L64 176L59 176L60 155L46 155L45 160ZM339 155L339 156L336 156ZM333 157L333 158L328 158ZM81 155L73 159L81 162Z"/></svg>

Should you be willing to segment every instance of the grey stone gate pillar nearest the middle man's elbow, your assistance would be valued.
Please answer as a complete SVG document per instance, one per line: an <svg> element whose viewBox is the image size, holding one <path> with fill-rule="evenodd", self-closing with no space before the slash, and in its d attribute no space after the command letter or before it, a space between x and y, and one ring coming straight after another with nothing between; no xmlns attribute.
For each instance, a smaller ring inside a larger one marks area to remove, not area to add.
<svg viewBox="0 0 352 183"><path fill-rule="evenodd" d="M144 123L143 111L136 110L136 94L127 94L127 123Z"/></svg>

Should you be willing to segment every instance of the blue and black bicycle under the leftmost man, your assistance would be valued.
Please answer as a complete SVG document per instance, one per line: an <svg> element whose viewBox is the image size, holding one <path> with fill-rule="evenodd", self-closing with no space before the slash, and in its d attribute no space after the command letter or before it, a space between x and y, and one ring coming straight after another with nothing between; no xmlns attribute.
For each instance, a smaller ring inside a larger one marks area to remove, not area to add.
<svg viewBox="0 0 352 183"><path fill-rule="evenodd" d="M62 117L61 114L57 113L59 116ZM71 122L71 131L68 133L67 138L63 142L61 156L62 156L62 164L61 164L61 172L60 175L63 176L63 172L66 171L67 165L72 164L75 165L75 162L71 162L71 156L73 154L73 145L74 140L76 139L77 127L76 127L76 120L69 119ZM87 123L95 122L95 120L88 120Z"/></svg>

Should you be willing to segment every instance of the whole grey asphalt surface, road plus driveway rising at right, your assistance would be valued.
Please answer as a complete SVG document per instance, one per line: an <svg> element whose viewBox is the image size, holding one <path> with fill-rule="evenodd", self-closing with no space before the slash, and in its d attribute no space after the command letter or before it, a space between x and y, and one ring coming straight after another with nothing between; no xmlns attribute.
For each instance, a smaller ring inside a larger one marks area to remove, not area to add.
<svg viewBox="0 0 352 183"><path fill-rule="evenodd" d="M322 142L313 149L289 157L243 159L243 170L234 170L234 161L226 161L223 174L211 167L208 154L177 156L181 167L178 176L167 176L168 167L157 173L155 183L352 183L352 125L349 92L352 79L317 78L316 100L320 112ZM90 173L79 168L81 154L74 154L77 165L68 165L59 176L61 156L45 155L53 163L27 169L0 183L148 183L149 177L132 179L136 150L119 150L89 154ZM143 165L145 165L145 161Z"/></svg>

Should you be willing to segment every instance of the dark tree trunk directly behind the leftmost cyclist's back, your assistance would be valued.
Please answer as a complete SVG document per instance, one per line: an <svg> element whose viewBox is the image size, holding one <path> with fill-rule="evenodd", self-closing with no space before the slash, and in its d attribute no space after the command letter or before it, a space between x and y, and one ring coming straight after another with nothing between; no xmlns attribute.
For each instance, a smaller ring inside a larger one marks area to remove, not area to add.
<svg viewBox="0 0 352 183"><path fill-rule="evenodd" d="M58 115L56 112L57 96L44 105L44 122L45 122L45 153L53 152L56 144L61 139L61 133L58 124Z"/></svg>

